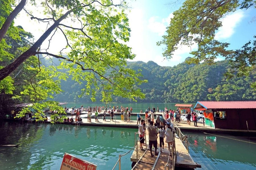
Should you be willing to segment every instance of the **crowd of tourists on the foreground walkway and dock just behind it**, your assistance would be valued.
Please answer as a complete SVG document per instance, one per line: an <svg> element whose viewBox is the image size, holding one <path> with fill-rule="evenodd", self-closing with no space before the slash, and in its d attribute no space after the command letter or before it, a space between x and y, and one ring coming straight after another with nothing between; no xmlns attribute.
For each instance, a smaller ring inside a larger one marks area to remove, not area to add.
<svg viewBox="0 0 256 170"><path fill-rule="evenodd" d="M137 115L137 124L139 123L139 137L140 137L140 149L144 151L143 148L145 142L145 133L146 133L146 125L148 125L147 131L149 136L149 149L151 153L151 157L154 156L152 153L152 148L155 148L155 155L158 155L157 152L157 138L159 137L159 146L160 151L164 149L164 143L167 143L168 149L170 146L174 145L174 124L181 122L181 113L177 109L176 111L171 109L164 109L163 114L157 114L155 109L153 108L151 111L150 109L145 111L145 120L143 120L140 114ZM158 108L157 108L158 111ZM140 112L142 113L142 111ZM154 115L156 114L156 120ZM197 114L195 112L187 112L186 113L187 124L190 125L191 119L194 122L194 126L197 126ZM204 126L204 118L203 118L203 126ZM159 135L159 136L158 136ZM164 142L165 138L165 142Z"/></svg>

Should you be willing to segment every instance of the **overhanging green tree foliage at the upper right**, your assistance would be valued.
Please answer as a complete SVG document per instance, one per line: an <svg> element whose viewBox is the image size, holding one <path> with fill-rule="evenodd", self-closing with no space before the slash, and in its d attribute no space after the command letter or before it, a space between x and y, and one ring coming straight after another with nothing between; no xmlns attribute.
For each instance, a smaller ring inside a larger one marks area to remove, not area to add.
<svg viewBox="0 0 256 170"><path fill-rule="evenodd" d="M255 37L252 38L253 43L249 41L241 49L228 50L229 43L215 40L215 33L222 26L221 19L225 15L238 9L255 7L255 0L186 0L180 9L173 13L167 35L157 44L166 45L163 55L167 58L172 57L179 45L197 44L197 50L191 52L194 57L187 63L199 63L203 60L213 63L220 55L232 63L233 67L229 73L248 75L255 69Z"/></svg>

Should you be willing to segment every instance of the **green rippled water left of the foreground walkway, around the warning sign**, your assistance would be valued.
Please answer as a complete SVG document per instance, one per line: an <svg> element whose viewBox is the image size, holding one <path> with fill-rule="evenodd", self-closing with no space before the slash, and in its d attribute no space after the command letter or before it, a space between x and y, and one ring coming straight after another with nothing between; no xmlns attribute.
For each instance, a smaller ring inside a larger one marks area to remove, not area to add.
<svg viewBox="0 0 256 170"><path fill-rule="evenodd" d="M130 128L75 127L70 125L24 124L4 122L0 127L0 169L59 170L65 152L112 169L119 154L134 145ZM130 154L122 157L122 169L131 169Z"/></svg>

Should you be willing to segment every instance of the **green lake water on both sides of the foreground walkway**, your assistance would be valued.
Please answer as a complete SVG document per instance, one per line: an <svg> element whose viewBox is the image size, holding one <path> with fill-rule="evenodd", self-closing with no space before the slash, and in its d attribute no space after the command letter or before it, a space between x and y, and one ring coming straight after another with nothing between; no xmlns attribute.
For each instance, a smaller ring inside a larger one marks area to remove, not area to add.
<svg viewBox="0 0 256 170"><path fill-rule="evenodd" d="M0 147L0 169L59 170L67 152L96 164L99 170L110 170L118 155L133 147L136 131L130 128L0 122L0 145L19 145ZM256 137L183 133L188 135L192 158L202 165L203 170L256 169L256 144L248 143L256 143ZM122 170L131 169L130 156L131 153L122 157Z"/></svg>

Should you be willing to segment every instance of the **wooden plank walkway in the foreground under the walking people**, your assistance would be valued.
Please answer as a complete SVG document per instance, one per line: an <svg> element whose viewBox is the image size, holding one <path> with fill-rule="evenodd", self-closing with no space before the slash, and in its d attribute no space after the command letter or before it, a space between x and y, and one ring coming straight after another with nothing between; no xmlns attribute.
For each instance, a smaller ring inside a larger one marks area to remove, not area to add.
<svg viewBox="0 0 256 170"><path fill-rule="evenodd" d="M146 140L148 143L148 135L146 135ZM165 143L165 146L166 145L167 144ZM185 148L184 144L181 142L180 139L177 139L177 138L175 139L175 145L176 145L176 157L174 157L175 167L201 168L201 165L198 165L193 161L192 157L190 156L190 154L188 153L187 149ZM138 147L139 147L139 143L138 143ZM149 149L148 145L147 145L147 148ZM151 154L149 150L141 151L140 149L138 149L138 163L133 167L133 169L134 170L152 169L154 164L156 163L154 169L163 170L164 166L168 161L168 148L166 146L165 149L162 149L162 152L160 152L159 145L158 145L158 148L159 148L157 150L159 152L158 160L157 160L157 156L155 155L153 157L150 157ZM132 162L137 162L136 154L137 154L137 149L135 148L131 156ZM171 168L172 168L172 160L170 159L169 169Z"/></svg>

